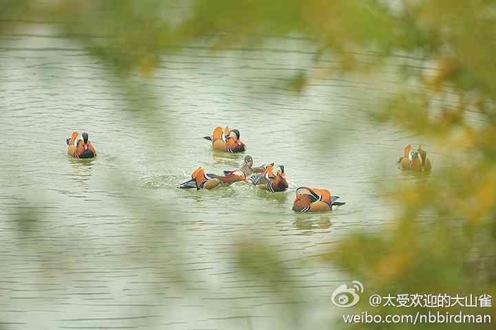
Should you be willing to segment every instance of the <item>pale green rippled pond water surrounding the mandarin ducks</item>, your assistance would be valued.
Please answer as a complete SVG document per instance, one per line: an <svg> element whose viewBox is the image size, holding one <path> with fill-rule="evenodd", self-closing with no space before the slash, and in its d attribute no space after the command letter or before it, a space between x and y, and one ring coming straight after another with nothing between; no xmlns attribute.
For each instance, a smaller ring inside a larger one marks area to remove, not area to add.
<svg viewBox="0 0 496 330"><path fill-rule="evenodd" d="M396 206L380 185L426 179L398 170L405 144L423 144L432 175L444 166L428 142L369 118L401 57L372 78L322 74L336 63L312 68L299 39L196 45L125 89L52 25L1 39L0 329L329 329L333 289L355 278L318 255L354 230L387 232ZM282 89L308 69L301 95ZM218 125L240 129L247 152L212 151L203 136ZM99 157L69 159L72 131L90 132ZM284 165L289 191L176 188L245 155ZM298 186L347 204L296 214ZM240 270L243 241L281 257L280 289Z"/></svg>

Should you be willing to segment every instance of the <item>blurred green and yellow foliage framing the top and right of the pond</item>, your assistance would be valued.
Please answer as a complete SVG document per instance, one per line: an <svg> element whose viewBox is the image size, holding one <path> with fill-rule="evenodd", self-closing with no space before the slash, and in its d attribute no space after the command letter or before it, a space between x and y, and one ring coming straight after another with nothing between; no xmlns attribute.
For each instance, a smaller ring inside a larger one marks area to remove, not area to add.
<svg viewBox="0 0 496 330"><path fill-rule="evenodd" d="M344 267L384 295L496 296L496 1L192 0L183 4L186 10L172 12L159 0L0 5L0 32L15 29L19 20L63 22L64 36L123 74L149 76L167 51L196 41L216 52L270 36L308 39L316 63L332 56L340 63L337 73L373 70L393 54L423 59L433 69L403 71L405 82L413 79L422 87L405 84L373 116L437 142L452 156L453 167L436 180L384 187L401 206L392 232L350 235L322 261ZM357 60L364 52L375 55L366 66ZM301 91L307 78L298 74L289 89ZM442 102L439 109L431 104L433 95L454 95L457 104ZM480 115L483 124L466 120L468 113ZM431 220L421 221L425 212L433 214ZM254 262L260 254L266 260ZM238 257L245 270L280 287L285 271L276 266L277 254L242 245ZM490 312L494 319L495 309Z"/></svg>

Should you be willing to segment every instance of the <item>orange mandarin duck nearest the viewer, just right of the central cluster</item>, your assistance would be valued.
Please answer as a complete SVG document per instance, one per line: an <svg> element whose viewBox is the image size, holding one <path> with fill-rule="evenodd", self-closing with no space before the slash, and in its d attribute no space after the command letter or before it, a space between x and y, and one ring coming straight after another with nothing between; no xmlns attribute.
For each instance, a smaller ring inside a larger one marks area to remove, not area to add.
<svg viewBox="0 0 496 330"><path fill-rule="evenodd" d="M331 196L327 189L299 187L296 189L296 198L293 201L293 211L329 212L333 206L344 205L345 202L337 201L338 196Z"/></svg>

